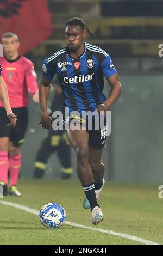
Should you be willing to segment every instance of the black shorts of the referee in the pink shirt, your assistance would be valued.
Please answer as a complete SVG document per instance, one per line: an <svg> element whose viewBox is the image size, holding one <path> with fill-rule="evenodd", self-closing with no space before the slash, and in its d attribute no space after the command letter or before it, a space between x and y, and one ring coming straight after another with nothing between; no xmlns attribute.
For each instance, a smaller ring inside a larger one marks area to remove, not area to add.
<svg viewBox="0 0 163 256"><path fill-rule="evenodd" d="M17 116L16 125L8 127L10 120L7 118L6 111L0 107L0 138L9 137L15 147L24 142L24 137L28 127L28 108L19 107L12 108L12 112Z"/></svg>

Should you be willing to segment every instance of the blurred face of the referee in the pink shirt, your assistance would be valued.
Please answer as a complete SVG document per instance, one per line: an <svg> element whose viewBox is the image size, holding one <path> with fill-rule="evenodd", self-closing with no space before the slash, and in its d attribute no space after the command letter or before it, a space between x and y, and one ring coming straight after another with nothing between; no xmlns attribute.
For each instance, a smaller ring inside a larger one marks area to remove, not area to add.
<svg viewBox="0 0 163 256"><path fill-rule="evenodd" d="M3 38L2 44L6 57L12 57L15 54L18 54L18 47L20 43L15 39L14 36L10 38Z"/></svg>

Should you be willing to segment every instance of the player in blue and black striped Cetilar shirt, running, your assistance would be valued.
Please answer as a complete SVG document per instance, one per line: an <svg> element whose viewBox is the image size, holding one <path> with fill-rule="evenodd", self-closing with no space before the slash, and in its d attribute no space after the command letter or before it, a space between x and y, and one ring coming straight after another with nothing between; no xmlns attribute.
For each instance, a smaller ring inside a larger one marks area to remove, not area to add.
<svg viewBox="0 0 163 256"><path fill-rule="evenodd" d="M66 22L67 46L44 60L39 96L42 127L49 128L51 118L47 113L47 99L50 83L57 73L65 96L65 106L69 107L70 115L65 124L70 121L70 127L66 133L77 154L77 174L86 196L83 206L91 209L92 224L96 225L103 220L97 200L104 185L105 167L101 163L101 156L106 139L106 124L98 131L94 126L93 129L80 129L87 120L71 113L78 111L82 117L83 111L106 114L121 94L121 83L108 53L85 42L87 33L91 35L82 19L74 17ZM102 93L103 76L111 86L107 99ZM73 119L76 119L76 129L72 125Z"/></svg>

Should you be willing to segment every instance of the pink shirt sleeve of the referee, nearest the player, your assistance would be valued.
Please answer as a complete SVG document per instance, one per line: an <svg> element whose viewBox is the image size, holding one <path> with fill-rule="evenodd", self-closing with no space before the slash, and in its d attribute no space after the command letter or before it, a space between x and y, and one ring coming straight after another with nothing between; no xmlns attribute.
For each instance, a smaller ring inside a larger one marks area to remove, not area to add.
<svg viewBox="0 0 163 256"><path fill-rule="evenodd" d="M37 85L37 75L33 63L26 64L26 82L30 93L33 95L39 88Z"/></svg>

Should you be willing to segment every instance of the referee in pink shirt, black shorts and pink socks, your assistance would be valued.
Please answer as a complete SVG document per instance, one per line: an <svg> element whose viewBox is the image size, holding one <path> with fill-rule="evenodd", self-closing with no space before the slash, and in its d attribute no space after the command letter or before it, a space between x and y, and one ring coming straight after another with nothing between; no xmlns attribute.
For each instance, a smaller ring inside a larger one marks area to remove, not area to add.
<svg viewBox="0 0 163 256"><path fill-rule="evenodd" d="M33 63L18 53L20 42L17 35L5 33L2 44L5 53L5 57L0 57L2 77L7 84L10 105L17 116L17 123L14 127L6 127L8 118L0 102L0 185L3 186L3 194L8 194L10 169L10 195L21 196L17 179L21 168L21 145L28 126L28 90L34 102L39 102L39 90Z"/></svg>

